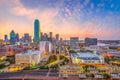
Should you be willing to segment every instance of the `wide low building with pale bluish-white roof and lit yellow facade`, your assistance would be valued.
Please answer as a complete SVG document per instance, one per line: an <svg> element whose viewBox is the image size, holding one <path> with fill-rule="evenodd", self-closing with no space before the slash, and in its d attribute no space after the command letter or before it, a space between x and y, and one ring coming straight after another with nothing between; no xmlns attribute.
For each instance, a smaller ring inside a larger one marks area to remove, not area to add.
<svg viewBox="0 0 120 80"><path fill-rule="evenodd" d="M93 53L72 53L71 59L73 64L104 64L104 58L101 55Z"/></svg>

